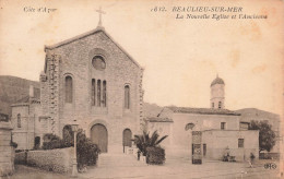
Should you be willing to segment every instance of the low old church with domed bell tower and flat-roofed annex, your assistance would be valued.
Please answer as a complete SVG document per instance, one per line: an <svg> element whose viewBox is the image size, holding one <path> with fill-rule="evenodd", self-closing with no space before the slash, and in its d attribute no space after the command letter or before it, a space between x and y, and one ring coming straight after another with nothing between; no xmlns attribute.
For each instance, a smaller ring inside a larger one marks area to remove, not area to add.
<svg viewBox="0 0 284 179"><path fill-rule="evenodd" d="M176 157L222 160L248 160L259 156L259 131L248 130L249 122L240 114L225 109L225 82L216 76L210 85L210 108L164 107L157 117L146 118L147 130L168 135L163 146L167 155ZM199 133L196 143L194 133Z"/></svg>

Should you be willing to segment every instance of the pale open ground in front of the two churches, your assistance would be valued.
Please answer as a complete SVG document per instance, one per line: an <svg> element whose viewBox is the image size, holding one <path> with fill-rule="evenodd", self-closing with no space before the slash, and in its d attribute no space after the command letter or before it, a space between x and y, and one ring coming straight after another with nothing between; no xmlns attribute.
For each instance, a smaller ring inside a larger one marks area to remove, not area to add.
<svg viewBox="0 0 284 179"><path fill-rule="evenodd" d="M187 158L168 157L164 166L146 165L138 162L133 155L102 154L96 167L90 167L87 172L79 174L82 179L96 178L276 178L276 169L265 169L264 164L275 160L258 160L253 168L248 163L225 163L217 160L203 160L202 165L192 165ZM66 179L69 176L43 171L39 169L16 166L16 172L7 177L11 179Z"/></svg>

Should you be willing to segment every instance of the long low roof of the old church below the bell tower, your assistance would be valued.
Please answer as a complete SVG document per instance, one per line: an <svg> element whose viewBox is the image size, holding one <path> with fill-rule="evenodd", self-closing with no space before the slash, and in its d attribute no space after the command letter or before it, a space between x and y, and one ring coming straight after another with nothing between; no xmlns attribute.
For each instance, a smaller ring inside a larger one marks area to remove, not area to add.
<svg viewBox="0 0 284 179"><path fill-rule="evenodd" d="M167 107L175 114L200 114L200 115L230 115L240 116L233 110L228 109L213 109L213 108L190 108L190 107Z"/></svg>

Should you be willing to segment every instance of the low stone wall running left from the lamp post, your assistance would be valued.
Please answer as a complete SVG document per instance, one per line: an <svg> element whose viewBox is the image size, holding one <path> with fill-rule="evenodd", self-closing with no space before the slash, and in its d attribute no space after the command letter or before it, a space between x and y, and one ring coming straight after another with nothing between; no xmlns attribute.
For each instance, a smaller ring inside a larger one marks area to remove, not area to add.
<svg viewBox="0 0 284 179"><path fill-rule="evenodd" d="M35 166L48 171L70 172L73 147L16 153L15 163Z"/></svg>

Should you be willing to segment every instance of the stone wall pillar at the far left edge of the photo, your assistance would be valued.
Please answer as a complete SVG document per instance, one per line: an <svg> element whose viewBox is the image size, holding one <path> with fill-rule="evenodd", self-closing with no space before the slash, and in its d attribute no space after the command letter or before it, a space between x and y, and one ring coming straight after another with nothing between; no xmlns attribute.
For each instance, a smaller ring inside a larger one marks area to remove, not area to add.
<svg viewBox="0 0 284 179"><path fill-rule="evenodd" d="M14 172L14 148L11 146L11 123L0 122L0 177Z"/></svg>

